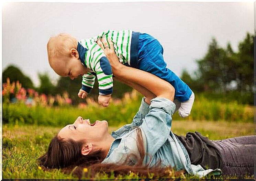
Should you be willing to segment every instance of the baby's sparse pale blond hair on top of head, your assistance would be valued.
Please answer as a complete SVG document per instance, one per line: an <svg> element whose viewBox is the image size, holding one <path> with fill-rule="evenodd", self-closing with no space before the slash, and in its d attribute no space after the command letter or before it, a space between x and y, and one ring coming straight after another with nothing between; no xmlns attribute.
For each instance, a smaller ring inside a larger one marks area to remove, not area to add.
<svg viewBox="0 0 256 181"><path fill-rule="evenodd" d="M70 50L77 49L77 39L67 33L51 36L47 43L48 61L52 67L52 58L55 56L70 56Z"/></svg>

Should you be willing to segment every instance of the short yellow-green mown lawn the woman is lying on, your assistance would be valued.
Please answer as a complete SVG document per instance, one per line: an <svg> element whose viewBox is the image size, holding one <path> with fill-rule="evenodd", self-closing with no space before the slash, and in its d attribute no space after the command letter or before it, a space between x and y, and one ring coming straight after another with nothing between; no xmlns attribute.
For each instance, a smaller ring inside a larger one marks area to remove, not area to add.
<svg viewBox="0 0 256 181"><path fill-rule="evenodd" d="M3 124L2 139L2 170L3 178L26 179L77 179L72 175L62 173L60 170L43 171L36 164L48 147L51 138L57 134L61 127L36 126L36 125L11 125ZM109 127L109 132L118 127ZM209 139L225 139L234 136L253 135L253 123L226 122L226 121L173 121L172 132L185 135L187 132L199 131L202 135L208 135ZM168 177L168 176L167 176ZM186 178L197 178L185 174ZM136 174L130 174L119 179L138 179ZM219 179L231 179L236 177L219 176ZM244 177L253 178L253 177ZM104 174L93 179L115 179Z"/></svg>

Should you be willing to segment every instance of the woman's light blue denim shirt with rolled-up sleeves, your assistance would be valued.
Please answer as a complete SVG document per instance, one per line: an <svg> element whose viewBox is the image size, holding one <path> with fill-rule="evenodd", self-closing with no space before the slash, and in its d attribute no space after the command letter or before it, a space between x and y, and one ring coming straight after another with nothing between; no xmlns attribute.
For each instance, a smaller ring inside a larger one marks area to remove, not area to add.
<svg viewBox="0 0 256 181"><path fill-rule="evenodd" d="M123 163L129 154L140 156L137 147L136 126L141 128L144 143L145 158L143 164L155 166L161 160L161 167L175 167L184 169L188 173L203 177L208 173L221 174L220 169L204 170L200 165L191 165L188 152L180 140L171 132L172 114L175 104L165 98L154 98L151 105L142 99L139 111L131 124L126 124L112 132L115 138L107 157L102 163ZM129 165L135 165L136 159L129 158Z"/></svg>

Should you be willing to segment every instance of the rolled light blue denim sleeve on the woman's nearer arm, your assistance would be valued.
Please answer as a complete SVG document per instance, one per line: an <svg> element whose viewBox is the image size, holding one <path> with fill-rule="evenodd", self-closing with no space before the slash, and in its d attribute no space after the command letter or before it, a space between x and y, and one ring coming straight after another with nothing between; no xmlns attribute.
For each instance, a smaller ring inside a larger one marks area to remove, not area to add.
<svg viewBox="0 0 256 181"><path fill-rule="evenodd" d="M149 155L155 155L170 135L171 116L175 108L176 105L168 99L154 98L151 100L149 112L140 126L144 133L145 151Z"/></svg>

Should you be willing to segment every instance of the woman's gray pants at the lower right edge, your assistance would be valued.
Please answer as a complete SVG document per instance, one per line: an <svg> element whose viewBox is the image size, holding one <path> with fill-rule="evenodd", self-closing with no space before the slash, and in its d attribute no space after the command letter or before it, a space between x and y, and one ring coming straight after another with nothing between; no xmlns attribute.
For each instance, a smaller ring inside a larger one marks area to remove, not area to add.
<svg viewBox="0 0 256 181"><path fill-rule="evenodd" d="M212 141L219 149L223 161L223 174L254 174L256 167L256 135L240 136Z"/></svg>

